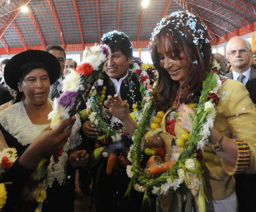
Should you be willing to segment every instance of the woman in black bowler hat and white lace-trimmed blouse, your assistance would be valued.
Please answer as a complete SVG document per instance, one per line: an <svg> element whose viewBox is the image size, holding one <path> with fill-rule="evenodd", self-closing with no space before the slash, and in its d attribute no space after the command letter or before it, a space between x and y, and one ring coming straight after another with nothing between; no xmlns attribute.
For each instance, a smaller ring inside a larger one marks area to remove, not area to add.
<svg viewBox="0 0 256 212"><path fill-rule="evenodd" d="M53 103L48 99L48 93L50 84L57 80L59 73L58 59L48 52L38 50L19 53L6 64L6 83L18 91L17 99L23 97L23 101L4 109L0 113L0 123L24 150L50 124L47 115L52 111ZM81 143L78 134L80 127L81 122L76 115L70 138L64 144L63 152L58 155L58 162L52 165L48 173L47 199L42 211L70 211L65 195L65 164L69 157L71 165L85 166L88 158L85 150L68 155L70 150ZM78 158L77 154L81 157ZM74 158L78 160L71 160Z"/></svg>

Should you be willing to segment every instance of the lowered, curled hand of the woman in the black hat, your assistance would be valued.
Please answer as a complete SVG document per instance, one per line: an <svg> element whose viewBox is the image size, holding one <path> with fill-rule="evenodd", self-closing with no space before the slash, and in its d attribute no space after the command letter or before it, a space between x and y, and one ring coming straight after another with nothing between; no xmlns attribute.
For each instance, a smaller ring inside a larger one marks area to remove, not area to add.
<svg viewBox="0 0 256 212"><path fill-rule="evenodd" d="M73 167L85 167L89 161L86 150L78 150L69 155L69 162Z"/></svg>

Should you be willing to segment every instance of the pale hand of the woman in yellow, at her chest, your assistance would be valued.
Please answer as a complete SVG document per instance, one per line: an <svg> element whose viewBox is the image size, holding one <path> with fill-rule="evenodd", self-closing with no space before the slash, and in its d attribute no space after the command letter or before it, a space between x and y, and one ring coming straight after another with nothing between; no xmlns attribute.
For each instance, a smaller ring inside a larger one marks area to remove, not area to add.
<svg viewBox="0 0 256 212"><path fill-rule="evenodd" d="M195 118L195 111L193 109L191 109L190 107L188 107L187 105L183 105L178 119L180 120L180 123L179 123L180 127L185 129L187 132L191 132L192 131L192 123L188 117L188 114L191 115L192 119Z"/></svg>

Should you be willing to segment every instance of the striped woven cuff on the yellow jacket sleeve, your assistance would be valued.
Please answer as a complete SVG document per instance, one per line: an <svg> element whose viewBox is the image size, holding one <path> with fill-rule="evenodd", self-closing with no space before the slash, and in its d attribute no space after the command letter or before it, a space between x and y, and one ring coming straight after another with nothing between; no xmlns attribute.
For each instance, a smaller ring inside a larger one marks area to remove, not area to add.
<svg viewBox="0 0 256 212"><path fill-rule="evenodd" d="M238 160L234 173L246 172L250 164L250 147L244 141L235 140L238 149Z"/></svg>

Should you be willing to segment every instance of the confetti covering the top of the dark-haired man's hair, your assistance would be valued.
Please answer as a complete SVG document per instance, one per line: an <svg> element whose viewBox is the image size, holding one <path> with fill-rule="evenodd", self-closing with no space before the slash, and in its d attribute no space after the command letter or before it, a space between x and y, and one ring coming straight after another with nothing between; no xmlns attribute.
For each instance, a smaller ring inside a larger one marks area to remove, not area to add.
<svg viewBox="0 0 256 212"><path fill-rule="evenodd" d="M115 39L116 36L121 37L122 40L124 40L124 41L127 41L129 43L129 48L131 50L133 49L133 45L132 45L128 35L125 34L124 32L118 32L117 30L103 34L103 36L101 38L101 43L108 45L112 50L114 42L111 42L110 40ZM115 42L116 42L116 40L115 40Z"/></svg>

